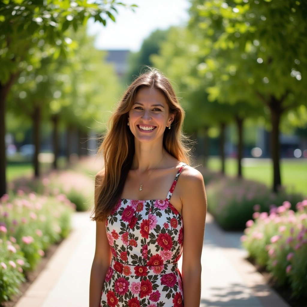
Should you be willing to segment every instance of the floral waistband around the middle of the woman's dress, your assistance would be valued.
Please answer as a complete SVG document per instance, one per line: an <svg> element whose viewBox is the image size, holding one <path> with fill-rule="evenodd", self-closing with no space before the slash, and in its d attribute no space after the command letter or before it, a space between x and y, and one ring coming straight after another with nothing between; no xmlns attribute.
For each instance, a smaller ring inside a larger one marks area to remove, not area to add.
<svg viewBox="0 0 307 307"><path fill-rule="evenodd" d="M178 262L172 262L161 266L133 266L118 262L112 258L111 267L125 276L163 275L175 272L178 268Z"/></svg>

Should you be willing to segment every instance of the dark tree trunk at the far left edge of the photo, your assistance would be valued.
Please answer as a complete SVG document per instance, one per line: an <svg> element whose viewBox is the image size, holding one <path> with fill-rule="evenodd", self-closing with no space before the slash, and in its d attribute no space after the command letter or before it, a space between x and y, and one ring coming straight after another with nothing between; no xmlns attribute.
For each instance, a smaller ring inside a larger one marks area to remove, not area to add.
<svg viewBox="0 0 307 307"><path fill-rule="evenodd" d="M5 104L17 76L11 75L6 84L0 83L0 197L6 194Z"/></svg>

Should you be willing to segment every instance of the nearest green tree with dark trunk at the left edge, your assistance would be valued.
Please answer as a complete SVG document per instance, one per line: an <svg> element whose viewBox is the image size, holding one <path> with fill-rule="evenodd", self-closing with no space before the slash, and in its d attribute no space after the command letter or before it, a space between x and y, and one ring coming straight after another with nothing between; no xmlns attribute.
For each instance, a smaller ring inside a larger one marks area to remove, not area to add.
<svg viewBox="0 0 307 307"><path fill-rule="evenodd" d="M69 51L71 40L66 30L77 30L93 17L104 25L115 20L116 0L4 0L0 2L0 195L6 192L5 106L7 95L21 71L37 68L41 59L53 54L56 58ZM35 49L41 47L41 54Z"/></svg>

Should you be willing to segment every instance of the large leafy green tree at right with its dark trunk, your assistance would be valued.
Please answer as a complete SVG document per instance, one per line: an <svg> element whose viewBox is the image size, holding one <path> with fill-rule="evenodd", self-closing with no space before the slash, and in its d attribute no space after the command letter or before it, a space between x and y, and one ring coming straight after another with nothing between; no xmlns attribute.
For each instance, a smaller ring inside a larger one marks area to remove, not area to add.
<svg viewBox="0 0 307 307"><path fill-rule="evenodd" d="M202 69L213 75L211 99L270 110L274 191L281 185L281 117L307 102L306 14L307 4L294 0L192 0L191 26L211 49Z"/></svg>

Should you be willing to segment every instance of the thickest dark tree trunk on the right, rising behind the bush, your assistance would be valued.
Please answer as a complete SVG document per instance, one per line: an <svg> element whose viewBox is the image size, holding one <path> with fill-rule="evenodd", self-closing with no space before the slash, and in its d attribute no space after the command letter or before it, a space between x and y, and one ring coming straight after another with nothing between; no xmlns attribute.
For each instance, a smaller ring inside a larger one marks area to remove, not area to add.
<svg viewBox="0 0 307 307"><path fill-rule="evenodd" d="M281 103L275 97L271 97L269 107L272 122L271 158L273 161L273 191L278 192L281 186L279 143L279 123L282 115Z"/></svg>

